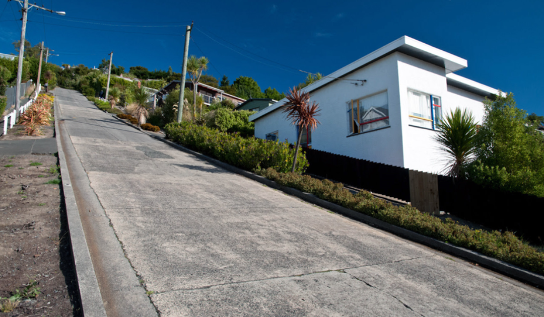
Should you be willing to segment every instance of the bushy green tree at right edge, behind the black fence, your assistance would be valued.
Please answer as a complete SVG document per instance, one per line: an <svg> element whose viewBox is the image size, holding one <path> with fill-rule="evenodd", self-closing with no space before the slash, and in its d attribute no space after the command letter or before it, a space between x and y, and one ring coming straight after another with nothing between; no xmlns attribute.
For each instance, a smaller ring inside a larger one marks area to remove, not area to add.
<svg viewBox="0 0 544 317"><path fill-rule="evenodd" d="M544 138L516 107L514 95L485 100L468 177L486 187L544 197Z"/></svg>

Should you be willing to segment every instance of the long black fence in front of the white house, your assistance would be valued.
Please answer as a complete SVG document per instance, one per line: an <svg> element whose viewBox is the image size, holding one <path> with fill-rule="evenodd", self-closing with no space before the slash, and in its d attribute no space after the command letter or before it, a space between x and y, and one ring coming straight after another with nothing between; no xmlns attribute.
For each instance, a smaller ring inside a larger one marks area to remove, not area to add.
<svg viewBox="0 0 544 317"><path fill-rule="evenodd" d="M310 163L308 173L409 201L426 212L435 212L433 208L439 204L440 210L462 219L544 243L544 198L319 150L305 149L305 152ZM438 200L434 201L436 195ZM426 206L430 209L425 210Z"/></svg>

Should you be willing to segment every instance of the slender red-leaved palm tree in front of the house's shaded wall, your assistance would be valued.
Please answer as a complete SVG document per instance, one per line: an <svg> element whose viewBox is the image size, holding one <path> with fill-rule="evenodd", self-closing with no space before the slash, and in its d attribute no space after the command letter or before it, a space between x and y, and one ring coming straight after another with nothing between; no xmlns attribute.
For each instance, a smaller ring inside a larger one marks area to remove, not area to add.
<svg viewBox="0 0 544 317"><path fill-rule="evenodd" d="M299 130L299 135L296 139L293 167L291 169L291 172L294 173L303 129L310 128L313 130L321 122L315 118L319 115L318 104L315 101L310 104L309 92L302 92L297 90L296 87L293 87L293 89L289 89L289 95L287 95L286 98L287 101L283 105L287 107L283 109L283 113L287 113L287 119L291 120L293 125L298 126Z"/></svg>

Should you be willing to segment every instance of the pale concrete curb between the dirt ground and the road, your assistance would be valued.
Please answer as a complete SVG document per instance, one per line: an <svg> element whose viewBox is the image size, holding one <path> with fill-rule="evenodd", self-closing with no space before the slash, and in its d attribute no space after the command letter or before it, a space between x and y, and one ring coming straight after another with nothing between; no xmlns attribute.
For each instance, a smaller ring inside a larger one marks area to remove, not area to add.
<svg viewBox="0 0 544 317"><path fill-rule="evenodd" d="M61 141L59 129L59 109L57 101L54 102L55 113L55 135L57 137L57 148L60 161L60 173L63 182L63 195L66 206L66 216L68 219L68 227L70 231L70 241L72 245L72 254L74 267L76 270L79 296L81 298L81 306L85 317L106 317L106 309L98 287L95 270L92 266L91 255L83 225L79 218L79 209L76 204L76 197L73 193L73 188L70 179L70 173L66 164L66 157Z"/></svg>

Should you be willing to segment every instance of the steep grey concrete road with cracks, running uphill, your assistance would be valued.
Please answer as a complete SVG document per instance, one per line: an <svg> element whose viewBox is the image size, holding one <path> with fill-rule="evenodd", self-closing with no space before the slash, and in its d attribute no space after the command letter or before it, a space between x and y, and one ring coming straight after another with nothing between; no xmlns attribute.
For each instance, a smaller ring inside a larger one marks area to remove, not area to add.
<svg viewBox="0 0 544 317"><path fill-rule="evenodd" d="M177 151L76 92L55 93L79 160L72 170L84 168L72 185L89 201L78 207L109 316L156 315L145 291L163 317L544 315L540 290Z"/></svg>

